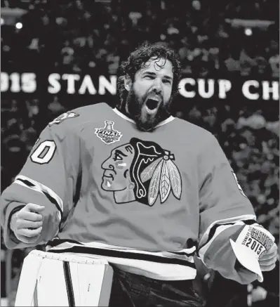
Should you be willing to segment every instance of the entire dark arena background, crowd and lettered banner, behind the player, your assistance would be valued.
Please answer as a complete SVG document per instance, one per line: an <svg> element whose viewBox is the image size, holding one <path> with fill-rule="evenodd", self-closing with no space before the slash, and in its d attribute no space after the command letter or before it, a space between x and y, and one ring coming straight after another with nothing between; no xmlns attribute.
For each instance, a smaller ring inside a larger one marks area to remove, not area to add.
<svg viewBox="0 0 280 307"><path fill-rule="evenodd" d="M173 115L218 138L258 222L279 244L276 0L1 1L1 191L48 122L82 105L116 103L119 63L143 41L178 51ZM13 306L27 252L7 251L1 240L1 306ZM279 306L279 261L264 283L248 287L198 265L206 306Z"/></svg>

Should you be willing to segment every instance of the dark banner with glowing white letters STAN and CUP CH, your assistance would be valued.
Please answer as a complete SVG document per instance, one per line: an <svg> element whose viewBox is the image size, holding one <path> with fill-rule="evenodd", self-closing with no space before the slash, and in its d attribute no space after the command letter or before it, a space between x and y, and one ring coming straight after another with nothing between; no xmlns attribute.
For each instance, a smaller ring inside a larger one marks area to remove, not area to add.
<svg viewBox="0 0 280 307"><path fill-rule="evenodd" d="M93 75L35 72L1 72L2 98L15 98L18 94L33 98L46 94L57 96L116 95L116 75ZM179 84L182 98L221 100L279 100L279 81L275 79L194 78L184 76Z"/></svg>

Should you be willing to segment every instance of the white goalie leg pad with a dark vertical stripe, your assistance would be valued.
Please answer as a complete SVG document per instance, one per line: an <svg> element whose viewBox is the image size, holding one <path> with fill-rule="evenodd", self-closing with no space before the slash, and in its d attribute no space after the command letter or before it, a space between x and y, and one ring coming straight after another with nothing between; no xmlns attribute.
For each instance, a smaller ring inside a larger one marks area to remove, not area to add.
<svg viewBox="0 0 280 307"><path fill-rule="evenodd" d="M23 262L15 306L108 306L106 260L34 250Z"/></svg>

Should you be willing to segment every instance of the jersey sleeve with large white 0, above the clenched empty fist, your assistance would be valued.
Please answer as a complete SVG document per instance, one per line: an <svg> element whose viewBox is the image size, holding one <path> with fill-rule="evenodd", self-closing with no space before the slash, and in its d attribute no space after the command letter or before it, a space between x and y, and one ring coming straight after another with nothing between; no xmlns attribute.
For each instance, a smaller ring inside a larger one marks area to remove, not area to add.
<svg viewBox="0 0 280 307"><path fill-rule="evenodd" d="M61 125L61 126L60 126ZM49 124L32 148L15 181L1 195L1 226L9 249L30 247L10 229L11 215L32 202L45 207L38 242L52 240L72 210L79 191L79 139L62 124Z"/></svg>

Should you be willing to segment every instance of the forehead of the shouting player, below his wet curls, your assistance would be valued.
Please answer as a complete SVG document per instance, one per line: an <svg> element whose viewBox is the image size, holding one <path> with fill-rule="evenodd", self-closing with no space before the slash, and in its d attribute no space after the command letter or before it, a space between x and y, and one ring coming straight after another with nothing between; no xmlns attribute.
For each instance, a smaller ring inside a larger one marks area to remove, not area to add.
<svg viewBox="0 0 280 307"><path fill-rule="evenodd" d="M140 74L145 72L154 72L156 74L166 74L170 77L173 76L173 65L170 60L164 58L150 58L146 63L142 65L142 68L138 71Z"/></svg>

